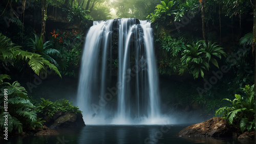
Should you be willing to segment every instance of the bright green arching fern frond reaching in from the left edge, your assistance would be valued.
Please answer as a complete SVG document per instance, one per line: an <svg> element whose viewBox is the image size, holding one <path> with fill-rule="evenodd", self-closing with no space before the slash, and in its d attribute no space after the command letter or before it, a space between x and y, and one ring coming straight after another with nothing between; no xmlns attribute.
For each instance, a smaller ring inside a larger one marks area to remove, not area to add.
<svg viewBox="0 0 256 144"><path fill-rule="evenodd" d="M13 59L17 61L23 60L28 63L37 75L39 75L42 70L46 70L46 68L49 67L61 77L57 67L45 60L41 55L21 50L20 47L21 46L15 46L14 43L11 42L11 39L0 34L0 60L2 62L5 60L12 61Z"/></svg>

